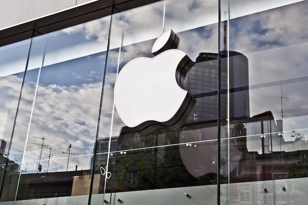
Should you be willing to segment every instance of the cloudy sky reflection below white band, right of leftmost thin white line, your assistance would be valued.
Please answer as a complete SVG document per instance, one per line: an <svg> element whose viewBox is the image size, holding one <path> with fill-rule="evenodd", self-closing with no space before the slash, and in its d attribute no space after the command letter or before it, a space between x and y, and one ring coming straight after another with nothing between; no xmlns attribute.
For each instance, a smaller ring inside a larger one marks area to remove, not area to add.
<svg viewBox="0 0 308 205"><path fill-rule="evenodd" d="M97 130L104 55L105 52L97 53L42 68L26 161L34 160L33 151L37 150L37 145L33 144L37 139L32 136L44 136L45 143L53 148L53 158L62 158L59 147L66 147L71 143L72 152L80 155L74 156L79 169L89 169L92 143ZM60 162L66 163L65 160ZM74 170L74 166L75 164L69 165L69 170ZM54 164L50 166L50 171L65 171L65 168L65 164Z"/></svg>

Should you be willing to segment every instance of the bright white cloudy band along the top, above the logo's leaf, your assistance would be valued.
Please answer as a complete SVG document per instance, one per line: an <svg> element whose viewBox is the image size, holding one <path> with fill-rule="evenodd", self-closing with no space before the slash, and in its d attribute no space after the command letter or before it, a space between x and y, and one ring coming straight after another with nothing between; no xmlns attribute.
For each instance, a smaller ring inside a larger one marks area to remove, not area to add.
<svg viewBox="0 0 308 205"><path fill-rule="evenodd" d="M232 9L230 18L233 19L240 16L254 14L296 2L300 1L285 0L271 1L271 3L266 1L263 4L255 1L245 1L245 3L235 1L230 3L230 10ZM154 3L150 6L144 6L113 15L114 22L112 23L110 48L113 49L119 47L122 31L125 31L125 37L123 40L123 46L125 46L155 39L162 33L163 29L172 29L178 33L218 23L218 4L216 1L198 0L183 2L179 0L168 0L165 4L165 19L163 19L164 2ZM226 8L225 10L228 9ZM141 18L140 16L143 17ZM222 18L224 17L225 16L222 16ZM146 23L149 20L151 22L150 27L148 27L149 25ZM224 19L222 21L224 21ZM161 26L161 30L153 29L157 26ZM67 32L69 32L69 29ZM92 35L92 33L90 35Z"/></svg>

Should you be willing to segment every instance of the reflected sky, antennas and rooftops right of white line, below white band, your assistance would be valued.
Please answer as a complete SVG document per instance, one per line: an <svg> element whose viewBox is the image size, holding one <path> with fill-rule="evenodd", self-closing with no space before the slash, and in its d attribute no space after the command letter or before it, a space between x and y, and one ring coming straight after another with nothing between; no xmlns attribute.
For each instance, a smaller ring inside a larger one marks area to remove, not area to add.
<svg viewBox="0 0 308 205"><path fill-rule="evenodd" d="M97 53L42 68L23 163L24 167L27 164L30 166L25 170L27 174L21 178L20 185L29 185L27 176L30 176L30 173L47 172L47 167L48 172L51 173L90 169L92 143L95 140L97 126L95 122L98 119L100 104L104 56L105 53ZM47 153L47 150L50 152ZM64 177L68 176L64 174ZM47 180L45 184L51 182ZM73 181L69 180L68 183L71 182ZM32 188L35 191L38 189L35 185ZM46 194L41 191L38 193L38 195L34 193L33 197L72 194L70 190L58 193L58 190L54 189L49 189ZM88 194L88 191L73 194ZM23 199L19 192L17 199Z"/></svg>

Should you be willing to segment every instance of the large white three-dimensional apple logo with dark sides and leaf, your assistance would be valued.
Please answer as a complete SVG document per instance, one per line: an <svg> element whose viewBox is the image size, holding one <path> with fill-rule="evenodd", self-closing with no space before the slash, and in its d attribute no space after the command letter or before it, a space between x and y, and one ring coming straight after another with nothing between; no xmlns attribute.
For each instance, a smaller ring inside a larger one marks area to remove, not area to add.
<svg viewBox="0 0 308 205"><path fill-rule="evenodd" d="M178 36L170 29L155 41L153 58L129 61L114 84L114 102L121 120L139 134L164 127L177 129L185 123L196 103L184 78L195 65L176 49Z"/></svg>

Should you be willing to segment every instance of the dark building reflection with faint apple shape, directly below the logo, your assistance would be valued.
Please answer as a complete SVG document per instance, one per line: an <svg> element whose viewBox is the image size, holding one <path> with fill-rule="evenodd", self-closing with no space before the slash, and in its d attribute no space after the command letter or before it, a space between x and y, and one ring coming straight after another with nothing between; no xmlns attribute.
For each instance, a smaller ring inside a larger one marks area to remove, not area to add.
<svg viewBox="0 0 308 205"><path fill-rule="evenodd" d="M213 130L215 129L214 127ZM190 141L192 134L196 136L199 133L201 136L200 130L180 130L181 128L177 132L161 130L140 136L132 129L123 128L117 142L114 191L215 184L217 140L204 138L202 142ZM213 130L205 128L201 132L207 133L209 138L215 138L217 133L210 136ZM165 145L166 143L170 145ZM213 149L205 149L208 146L213 146ZM191 160L193 155L199 157ZM208 157L204 159L204 155ZM192 170L194 171L191 172Z"/></svg>

